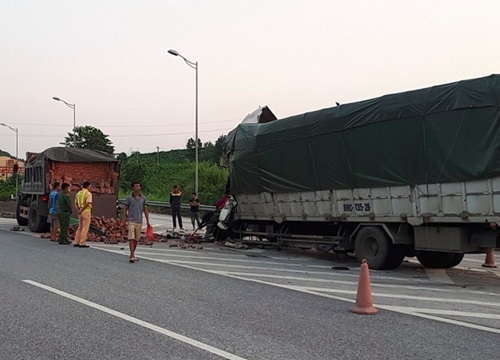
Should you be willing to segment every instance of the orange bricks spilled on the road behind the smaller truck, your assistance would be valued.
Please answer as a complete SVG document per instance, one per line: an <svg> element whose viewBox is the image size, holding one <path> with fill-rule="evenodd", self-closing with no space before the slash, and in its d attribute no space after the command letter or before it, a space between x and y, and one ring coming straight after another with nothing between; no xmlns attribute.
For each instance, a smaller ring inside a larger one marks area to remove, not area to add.
<svg viewBox="0 0 500 360"><path fill-rule="evenodd" d="M120 219L108 218L105 216L93 216L90 220L91 227L99 229L101 234L96 234L89 230L87 241L89 242L104 242L105 244L118 244L119 242L128 241L127 226L121 224ZM70 225L68 228L68 239L74 240L78 225ZM42 238L50 238L50 234L42 234ZM164 238L158 234L154 234L156 242L164 241ZM145 236L141 237L140 244L150 245L152 242L147 241Z"/></svg>

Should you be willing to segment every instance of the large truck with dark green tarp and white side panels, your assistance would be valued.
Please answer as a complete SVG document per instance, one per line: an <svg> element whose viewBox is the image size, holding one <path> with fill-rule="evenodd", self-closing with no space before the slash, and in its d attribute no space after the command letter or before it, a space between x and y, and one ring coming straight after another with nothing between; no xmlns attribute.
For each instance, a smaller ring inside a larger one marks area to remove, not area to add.
<svg viewBox="0 0 500 360"><path fill-rule="evenodd" d="M225 154L216 236L355 253L372 269L500 247L499 75L245 121Z"/></svg>

